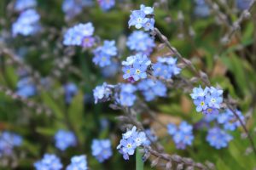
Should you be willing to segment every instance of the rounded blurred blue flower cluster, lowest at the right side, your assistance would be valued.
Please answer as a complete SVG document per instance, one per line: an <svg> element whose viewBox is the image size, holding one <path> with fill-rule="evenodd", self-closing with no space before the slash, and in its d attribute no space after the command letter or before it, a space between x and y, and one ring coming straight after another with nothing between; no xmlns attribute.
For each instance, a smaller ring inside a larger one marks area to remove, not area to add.
<svg viewBox="0 0 256 170"><path fill-rule="evenodd" d="M207 133L207 142L217 150L225 148L233 137L219 127L212 127Z"/></svg>

